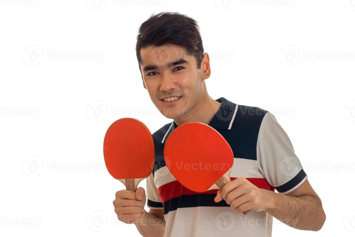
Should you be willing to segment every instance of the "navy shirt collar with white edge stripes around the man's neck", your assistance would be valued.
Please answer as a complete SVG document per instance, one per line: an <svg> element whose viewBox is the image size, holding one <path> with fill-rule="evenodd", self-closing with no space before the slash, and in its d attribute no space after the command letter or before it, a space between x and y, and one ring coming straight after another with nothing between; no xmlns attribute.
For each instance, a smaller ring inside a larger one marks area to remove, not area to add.
<svg viewBox="0 0 355 237"><path fill-rule="evenodd" d="M208 125L214 128L215 130L230 129L233 124L235 114L237 112L238 104L235 104L224 97L215 99L215 101L221 103L221 105L217 113L213 116L211 122L208 123ZM175 121L173 121L168 131L166 131L162 143L166 141L170 133L177 127L178 125L176 125Z"/></svg>

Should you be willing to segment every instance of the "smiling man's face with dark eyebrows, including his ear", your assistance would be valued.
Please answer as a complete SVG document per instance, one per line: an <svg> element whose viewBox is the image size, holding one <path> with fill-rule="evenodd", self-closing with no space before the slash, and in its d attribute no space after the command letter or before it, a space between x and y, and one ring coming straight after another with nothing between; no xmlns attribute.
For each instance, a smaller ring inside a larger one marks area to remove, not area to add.
<svg viewBox="0 0 355 237"><path fill-rule="evenodd" d="M208 54L204 54L201 69L197 69L193 55L187 55L184 47L175 44L149 46L140 54L143 86L159 111L170 119L189 112L206 90L203 80L210 75ZM175 96L180 98L175 100ZM174 97L174 101L165 102L163 98L167 97Z"/></svg>

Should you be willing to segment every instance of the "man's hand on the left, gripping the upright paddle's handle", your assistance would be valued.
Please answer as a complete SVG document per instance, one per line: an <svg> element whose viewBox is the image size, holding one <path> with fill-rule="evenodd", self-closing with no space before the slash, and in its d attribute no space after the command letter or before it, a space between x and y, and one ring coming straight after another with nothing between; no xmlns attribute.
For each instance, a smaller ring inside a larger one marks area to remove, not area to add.
<svg viewBox="0 0 355 237"><path fill-rule="evenodd" d="M142 187L138 187L136 192L131 190L117 191L113 205L120 221L127 224L138 222L144 215L146 191Z"/></svg>

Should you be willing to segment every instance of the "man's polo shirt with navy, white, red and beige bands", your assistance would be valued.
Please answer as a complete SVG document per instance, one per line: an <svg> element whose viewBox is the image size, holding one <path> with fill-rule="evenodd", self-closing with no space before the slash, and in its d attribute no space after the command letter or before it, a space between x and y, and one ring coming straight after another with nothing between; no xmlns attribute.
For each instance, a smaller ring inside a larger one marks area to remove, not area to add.
<svg viewBox="0 0 355 237"><path fill-rule="evenodd" d="M234 155L230 179L244 177L258 188L286 194L307 178L291 141L274 115L258 107L235 104L221 97L208 124L229 143ZM271 236L273 217L264 212L236 213L217 189L204 193L182 186L164 161L164 144L176 123L152 134L155 165L147 178L147 206L164 209L165 236Z"/></svg>

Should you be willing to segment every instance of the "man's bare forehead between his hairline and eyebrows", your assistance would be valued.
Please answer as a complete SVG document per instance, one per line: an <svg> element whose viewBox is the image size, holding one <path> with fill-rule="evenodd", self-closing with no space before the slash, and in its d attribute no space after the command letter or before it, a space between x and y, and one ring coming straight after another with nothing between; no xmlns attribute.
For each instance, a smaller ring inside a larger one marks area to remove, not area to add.
<svg viewBox="0 0 355 237"><path fill-rule="evenodd" d="M148 46L141 49L142 67L146 65L155 65L163 67L176 59L185 59L190 61L192 55L187 55L184 47L176 44L164 44L161 46Z"/></svg>

